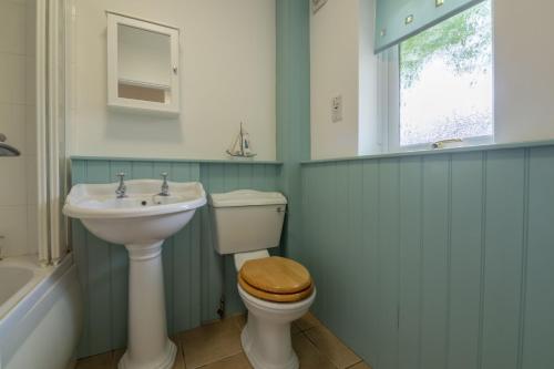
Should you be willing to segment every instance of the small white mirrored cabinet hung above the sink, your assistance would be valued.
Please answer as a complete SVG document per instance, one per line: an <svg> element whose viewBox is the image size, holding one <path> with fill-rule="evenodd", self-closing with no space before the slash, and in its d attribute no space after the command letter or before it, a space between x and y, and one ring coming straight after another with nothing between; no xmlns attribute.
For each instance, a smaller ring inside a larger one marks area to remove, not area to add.
<svg viewBox="0 0 554 369"><path fill-rule="evenodd" d="M107 12L107 105L179 114L177 28Z"/></svg>

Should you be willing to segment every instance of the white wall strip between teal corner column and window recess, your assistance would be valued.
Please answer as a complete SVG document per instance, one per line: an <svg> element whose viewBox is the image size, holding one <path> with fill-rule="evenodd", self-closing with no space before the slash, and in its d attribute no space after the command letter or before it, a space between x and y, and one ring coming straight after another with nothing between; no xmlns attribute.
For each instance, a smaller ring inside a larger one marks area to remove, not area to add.
<svg viewBox="0 0 554 369"><path fill-rule="evenodd" d="M358 0L330 0L310 17L311 157L358 153ZM331 121L342 95L342 122Z"/></svg>

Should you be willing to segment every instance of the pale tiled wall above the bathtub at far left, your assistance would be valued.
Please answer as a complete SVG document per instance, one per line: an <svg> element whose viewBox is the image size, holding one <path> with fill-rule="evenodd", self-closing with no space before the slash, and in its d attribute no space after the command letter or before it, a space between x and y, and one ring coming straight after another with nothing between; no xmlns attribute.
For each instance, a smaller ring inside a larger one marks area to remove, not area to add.
<svg viewBox="0 0 554 369"><path fill-rule="evenodd" d="M34 22L34 0L0 0L0 133L21 151L0 157L2 256L38 250Z"/></svg>

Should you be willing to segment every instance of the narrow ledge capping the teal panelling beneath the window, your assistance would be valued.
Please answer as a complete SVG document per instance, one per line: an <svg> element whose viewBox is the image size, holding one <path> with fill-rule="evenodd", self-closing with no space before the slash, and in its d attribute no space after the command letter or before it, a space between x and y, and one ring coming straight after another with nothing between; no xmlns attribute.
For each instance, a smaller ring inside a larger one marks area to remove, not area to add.
<svg viewBox="0 0 554 369"><path fill-rule="evenodd" d="M311 160L311 161L301 162L300 164L301 165L309 165L309 164L320 164L320 163L365 161L365 160L371 160L371 158L449 155L449 154L458 154L458 153L485 152L485 151L510 150L510 148L532 148L532 147L543 147L543 146L554 146L554 140L526 141L526 142L502 143L502 144L485 144L485 145L434 148L434 150L429 148L429 150L400 151L400 152L363 155L363 156Z"/></svg>

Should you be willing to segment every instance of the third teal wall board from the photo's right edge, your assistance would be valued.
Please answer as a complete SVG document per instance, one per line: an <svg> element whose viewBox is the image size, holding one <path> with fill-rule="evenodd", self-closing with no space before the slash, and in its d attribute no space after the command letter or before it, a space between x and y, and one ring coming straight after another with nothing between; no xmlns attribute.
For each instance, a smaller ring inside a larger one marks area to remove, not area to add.
<svg viewBox="0 0 554 369"><path fill-rule="evenodd" d="M448 368L478 365L483 264L483 153L452 158Z"/></svg>

